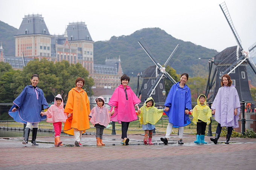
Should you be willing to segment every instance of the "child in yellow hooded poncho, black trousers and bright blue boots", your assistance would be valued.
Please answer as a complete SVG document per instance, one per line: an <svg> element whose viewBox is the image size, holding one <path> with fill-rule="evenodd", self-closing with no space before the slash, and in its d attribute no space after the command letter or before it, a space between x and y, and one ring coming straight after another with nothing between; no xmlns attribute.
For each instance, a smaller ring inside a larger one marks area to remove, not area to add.
<svg viewBox="0 0 256 170"><path fill-rule="evenodd" d="M197 125L197 140L194 143L207 143L204 141L204 135L206 130L206 124L210 124L210 117L212 111L209 106L206 105L206 96L200 95L197 99L197 105L193 108L193 120L192 122Z"/></svg>

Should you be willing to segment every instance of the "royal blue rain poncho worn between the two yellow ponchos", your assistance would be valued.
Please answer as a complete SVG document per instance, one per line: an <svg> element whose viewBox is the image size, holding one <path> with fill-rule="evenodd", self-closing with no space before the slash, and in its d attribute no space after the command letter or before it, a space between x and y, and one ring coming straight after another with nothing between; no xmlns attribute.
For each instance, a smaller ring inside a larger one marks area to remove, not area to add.
<svg viewBox="0 0 256 170"><path fill-rule="evenodd" d="M186 84L181 88L179 83L172 86L165 101L165 106L170 108L165 113L174 128L187 126L191 123L189 115L185 114L186 108L192 109L190 89Z"/></svg>

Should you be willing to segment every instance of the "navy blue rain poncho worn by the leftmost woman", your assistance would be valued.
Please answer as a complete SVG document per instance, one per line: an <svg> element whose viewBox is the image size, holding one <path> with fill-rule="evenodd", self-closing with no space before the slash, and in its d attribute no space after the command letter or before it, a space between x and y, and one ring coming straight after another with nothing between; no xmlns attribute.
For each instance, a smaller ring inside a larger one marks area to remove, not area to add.
<svg viewBox="0 0 256 170"><path fill-rule="evenodd" d="M47 101L44 98L43 90L38 87L34 88L29 85L26 86L20 95L13 101L12 108L18 106L18 109L12 112L12 108L9 110L9 115L13 117L16 122L21 123L36 123L46 119L46 116L41 116L40 112L42 105L44 108L48 107Z"/></svg>

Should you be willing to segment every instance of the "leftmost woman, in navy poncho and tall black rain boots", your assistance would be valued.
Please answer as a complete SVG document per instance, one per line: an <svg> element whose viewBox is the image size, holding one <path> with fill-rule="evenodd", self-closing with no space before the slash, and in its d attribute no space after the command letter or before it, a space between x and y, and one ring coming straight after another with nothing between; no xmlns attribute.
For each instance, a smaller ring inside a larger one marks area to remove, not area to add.
<svg viewBox="0 0 256 170"><path fill-rule="evenodd" d="M44 111L44 106L48 107L46 99L44 98L43 90L37 87L39 77L33 74L29 86L26 86L20 95L13 101L14 105L9 110L9 115L13 117L16 122L21 122L26 125L25 138L22 144L27 145L29 140L29 132L32 129L33 145L38 145L35 140L37 138L38 122L46 119L46 116L41 116L40 113Z"/></svg>

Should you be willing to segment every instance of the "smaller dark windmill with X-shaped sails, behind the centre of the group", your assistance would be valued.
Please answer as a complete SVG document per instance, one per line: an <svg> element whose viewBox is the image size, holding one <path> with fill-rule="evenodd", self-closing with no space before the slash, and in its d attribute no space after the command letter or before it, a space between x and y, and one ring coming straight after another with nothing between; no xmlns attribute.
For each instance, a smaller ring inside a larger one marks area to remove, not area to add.
<svg viewBox="0 0 256 170"><path fill-rule="evenodd" d="M140 90L137 90L139 92L139 95L141 95L141 101L144 102L145 99L152 96L154 98L155 102L163 102L164 101L164 95L162 94L162 91L165 90L163 78L168 78L173 84L176 83L174 78L171 77L171 75L168 74L168 72L165 71L165 67L169 65L170 67L175 62L175 60L178 58L180 53L182 52L179 45L177 45L172 51L171 55L168 57L164 65L160 65L157 59L154 57L154 55L149 50L148 45L146 42L141 38L140 41L138 41L140 46L143 48L143 50L146 52L146 54L149 56L149 58L153 61L155 65L149 66L146 68L142 73L139 75L144 78L142 87ZM138 77L139 78L139 77ZM138 87L139 89L139 81L138 81Z"/></svg>

